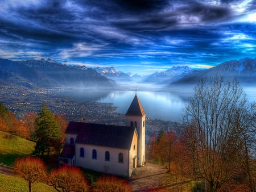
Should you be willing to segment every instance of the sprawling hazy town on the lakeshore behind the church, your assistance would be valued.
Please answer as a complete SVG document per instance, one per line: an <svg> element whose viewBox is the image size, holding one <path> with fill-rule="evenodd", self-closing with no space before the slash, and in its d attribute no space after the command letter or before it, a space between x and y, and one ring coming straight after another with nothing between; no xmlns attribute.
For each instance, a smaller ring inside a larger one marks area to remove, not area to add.
<svg viewBox="0 0 256 192"><path fill-rule="evenodd" d="M14 112L18 119L22 119L27 112L38 113L44 102L53 114L63 115L68 120L115 125L125 124L125 114L114 112L116 107L113 106L113 103L77 101L71 97L55 95L54 92L53 89L24 90L19 89L18 86L2 86L0 103ZM172 130L177 133L181 131L179 123L161 119L147 118L146 127L146 141L154 132L159 130Z"/></svg>

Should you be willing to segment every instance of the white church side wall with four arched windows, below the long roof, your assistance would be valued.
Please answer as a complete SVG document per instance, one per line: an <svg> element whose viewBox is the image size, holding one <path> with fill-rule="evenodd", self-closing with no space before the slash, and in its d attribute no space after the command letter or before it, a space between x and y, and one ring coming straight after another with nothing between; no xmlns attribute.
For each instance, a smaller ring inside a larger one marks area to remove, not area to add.
<svg viewBox="0 0 256 192"><path fill-rule="evenodd" d="M84 157L80 157L80 148L84 148ZM97 159L92 158L93 149L97 151ZM105 160L106 151L110 154L109 161ZM123 163L118 162L119 153L123 154ZM76 165L97 172L129 177L128 153L126 149L76 144Z"/></svg>

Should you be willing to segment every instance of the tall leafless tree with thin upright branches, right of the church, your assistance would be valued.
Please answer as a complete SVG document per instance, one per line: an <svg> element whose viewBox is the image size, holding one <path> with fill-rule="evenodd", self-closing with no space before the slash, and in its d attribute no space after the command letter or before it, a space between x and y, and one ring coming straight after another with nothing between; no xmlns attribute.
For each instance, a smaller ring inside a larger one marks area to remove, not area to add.
<svg viewBox="0 0 256 192"><path fill-rule="evenodd" d="M187 148L194 174L207 182L209 191L218 191L239 172L247 132L243 114L252 116L246 97L236 79L213 77L199 81L184 114ZM189 130L188 130L189 129Z"/></svg>

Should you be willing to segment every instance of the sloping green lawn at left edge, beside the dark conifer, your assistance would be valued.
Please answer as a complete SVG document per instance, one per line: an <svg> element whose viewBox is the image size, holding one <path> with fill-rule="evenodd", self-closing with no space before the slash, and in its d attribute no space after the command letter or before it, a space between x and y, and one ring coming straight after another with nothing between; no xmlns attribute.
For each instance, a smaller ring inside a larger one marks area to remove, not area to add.
<svg viewBox="0 0 256 192"><path fill-rule="evenodd" d="M0 131L0 164L13 166L16 157L30 155L35 143Z"/></svg>

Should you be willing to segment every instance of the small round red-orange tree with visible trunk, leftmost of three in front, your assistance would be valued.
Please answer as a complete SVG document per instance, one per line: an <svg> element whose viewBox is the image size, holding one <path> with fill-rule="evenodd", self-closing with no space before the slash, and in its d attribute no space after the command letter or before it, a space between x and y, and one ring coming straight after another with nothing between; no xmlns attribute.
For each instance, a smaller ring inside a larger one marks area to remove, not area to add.
<svg viewBox="0 0 256 192"><path fill-rule="evenodd" d="M32 191L32 183L38 181L46 174L44 162L36 157L16 158L14 168L24 180L28 181L28 189Z"/></svg>

